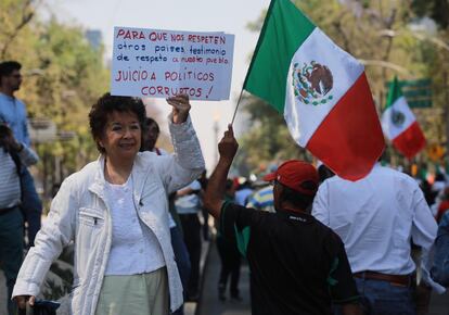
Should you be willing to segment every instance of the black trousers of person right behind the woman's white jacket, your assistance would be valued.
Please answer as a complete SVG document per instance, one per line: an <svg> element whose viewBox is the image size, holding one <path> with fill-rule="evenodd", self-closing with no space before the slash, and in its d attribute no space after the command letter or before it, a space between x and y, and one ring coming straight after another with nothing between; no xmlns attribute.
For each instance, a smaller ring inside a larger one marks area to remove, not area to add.
<svg viewBox="0 0 449 315"><path fill-rule="evenodd" d="M189 252L191 272L187 287L188 299L200 292L201 223L197 214L180 214L184 243Z"/></svg>

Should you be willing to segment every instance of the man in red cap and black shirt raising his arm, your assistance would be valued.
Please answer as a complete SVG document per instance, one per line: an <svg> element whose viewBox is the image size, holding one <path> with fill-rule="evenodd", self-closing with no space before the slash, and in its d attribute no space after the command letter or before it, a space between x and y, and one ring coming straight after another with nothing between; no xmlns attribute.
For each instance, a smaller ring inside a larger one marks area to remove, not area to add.
<svg viewBox="0 0 449 315"><path fill-rule="evenodd" d="M266 176L273 182L275 213L223 202L226 180L238 150L232 127L218 144L220 160L205 196L205 206L219 220L220 232L235 238L251 269L252 313L360 314L356 284L343 242L310 215L318 190L316 168L287 161Z"/></svg>

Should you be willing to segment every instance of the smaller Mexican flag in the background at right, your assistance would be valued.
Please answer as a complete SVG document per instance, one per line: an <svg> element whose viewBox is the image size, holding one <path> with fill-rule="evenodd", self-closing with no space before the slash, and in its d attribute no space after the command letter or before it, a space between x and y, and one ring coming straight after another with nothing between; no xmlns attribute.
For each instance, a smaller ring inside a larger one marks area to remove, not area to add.
<svg viewBox="0 0 449 315"><path fill-rule="evenodd" d="M424 134L402 96L397 77L388 91L382 127L393 146L408 159L412 159L425 147Z"/></svg>

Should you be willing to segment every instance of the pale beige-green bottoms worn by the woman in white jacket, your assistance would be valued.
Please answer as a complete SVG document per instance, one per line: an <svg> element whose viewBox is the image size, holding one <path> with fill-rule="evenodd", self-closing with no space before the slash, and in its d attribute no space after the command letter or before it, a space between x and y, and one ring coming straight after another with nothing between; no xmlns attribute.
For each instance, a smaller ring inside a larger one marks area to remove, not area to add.
<svg viewBox="0 0 449 315"><path fill-rule="evenodd" d="M168 315L166 267L149 274L105 276L95 315Z"/></svg>

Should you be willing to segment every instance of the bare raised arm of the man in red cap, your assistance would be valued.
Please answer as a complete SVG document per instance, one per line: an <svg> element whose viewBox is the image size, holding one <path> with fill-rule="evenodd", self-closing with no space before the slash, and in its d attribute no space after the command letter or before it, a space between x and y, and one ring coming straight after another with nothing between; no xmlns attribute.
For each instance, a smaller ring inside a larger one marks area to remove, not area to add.
<svg viewBox="0 0 449 315"><path fill-rule="evenodd" d="M204 206L215 218L220 217L226 180L228 179L229 168L231 167L238 149L239 143L234 138L232 126L228 125L228 130L224 133L220 143L218 143L220 160L209 178L206 194L204 197Z"/></svg>

